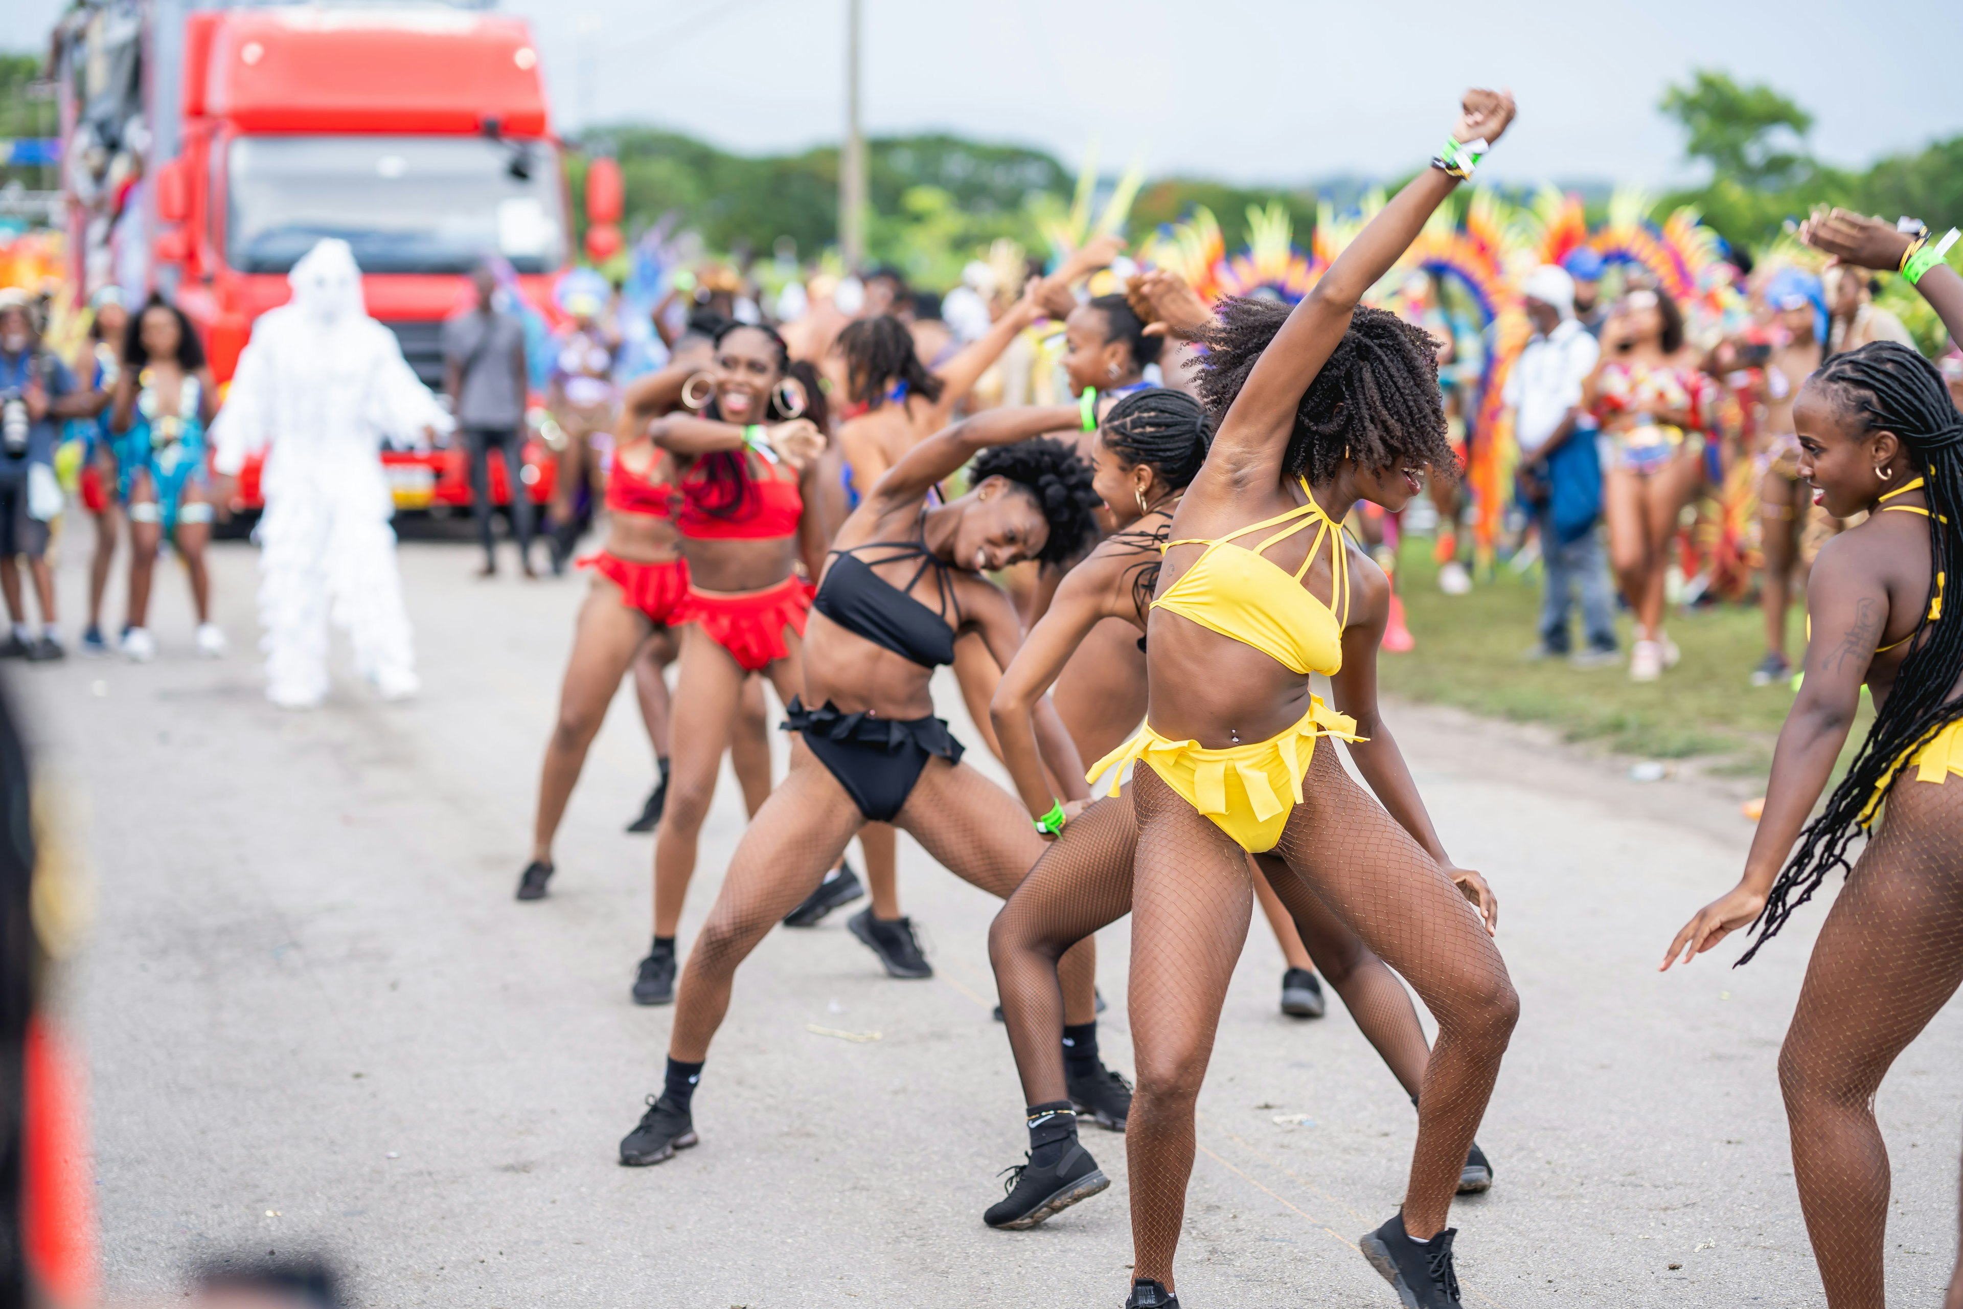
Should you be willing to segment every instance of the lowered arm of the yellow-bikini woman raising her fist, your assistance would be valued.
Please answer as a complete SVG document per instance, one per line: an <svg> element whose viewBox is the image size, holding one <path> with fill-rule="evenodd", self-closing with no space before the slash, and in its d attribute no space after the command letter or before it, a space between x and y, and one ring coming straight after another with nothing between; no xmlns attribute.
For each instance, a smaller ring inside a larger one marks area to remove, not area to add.
<svg viewBox="0 0 1963 1309"><path fill-rule="evenodd" d="M1404 752L1390 734L1376 703L1376 652L1384 642L1384 624L1390 620L1390 581L1374 565L1351 559L1351 622L1343 628L1343 669L1329 679L1335 707L1356 720L1356 736L1349 754L1356 761L1356 771L1376 793L1386 812L1425 848L1447 877L1478 907L1486 920L1486 932L1500 928L1500 903L1494 899L1486 879L1470 867L1459 867L1445 854L1425 801L1417 795L1411 769L1404 761Z"/></svg>

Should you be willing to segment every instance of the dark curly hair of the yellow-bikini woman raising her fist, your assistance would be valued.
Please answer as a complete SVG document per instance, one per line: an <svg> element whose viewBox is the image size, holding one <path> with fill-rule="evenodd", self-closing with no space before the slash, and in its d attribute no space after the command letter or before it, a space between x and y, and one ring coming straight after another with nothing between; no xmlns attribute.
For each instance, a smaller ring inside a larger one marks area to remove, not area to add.
<svg viewBox="0 0 1963 1309"><path fill-rule="evenodd" d="M1201 336L1207 353L1199 369L1199 398L1215 426L1288 314L1290 306L1278 300L1237 296L1219 304L1215 324ZM1325 481L1345 459L1378 473L1400 459L1419 459L1457 479L1437 351L1423 328L1380 308L1358 308L1296 404L1282 471Z"/></svg>

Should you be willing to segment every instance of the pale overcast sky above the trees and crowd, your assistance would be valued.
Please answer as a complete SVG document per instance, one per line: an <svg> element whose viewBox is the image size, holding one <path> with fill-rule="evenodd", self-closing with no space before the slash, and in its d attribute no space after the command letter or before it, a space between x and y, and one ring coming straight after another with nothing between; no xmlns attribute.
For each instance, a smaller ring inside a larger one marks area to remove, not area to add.
<svg viewBox="0 0 1963 1309"><path fill-rule="evenodd" d="M22 35L61 0L14 0ZM650 122L738 151L834 141L846 0L501 0L561 128ZM1684 181L1657 114L1690 69L1765 80L1843 165L1963 133L1963 4L864 0L868 131L950 130L1105 171L1303 183L1427 159L1466 84L1512 86L1504 181ZM33 37L27 37L29 41Z"/></svg>

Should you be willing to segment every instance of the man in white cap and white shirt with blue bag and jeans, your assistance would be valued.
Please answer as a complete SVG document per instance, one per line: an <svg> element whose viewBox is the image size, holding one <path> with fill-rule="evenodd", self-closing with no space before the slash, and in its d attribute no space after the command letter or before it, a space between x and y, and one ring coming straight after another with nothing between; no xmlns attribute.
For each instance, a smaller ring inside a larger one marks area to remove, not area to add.
<svg viewBox="0 0 1963 1309"><path fill-rule="evenodd" d="M1582 410L1582 383L1602 347L1574 320L1574 279L1563 269L1541 265L1521 292L1533 340L1513 363L1504 398L1513 410L1521 487L1535 506L1547 573L1541 640L1529 657L1561 655L1580 667L1602 667L1618 661L1616 626L1594 526L1602 512L1602 461L1594 422ZM1576 589L1588 646L1570 655L1568 610Z"/></svg>

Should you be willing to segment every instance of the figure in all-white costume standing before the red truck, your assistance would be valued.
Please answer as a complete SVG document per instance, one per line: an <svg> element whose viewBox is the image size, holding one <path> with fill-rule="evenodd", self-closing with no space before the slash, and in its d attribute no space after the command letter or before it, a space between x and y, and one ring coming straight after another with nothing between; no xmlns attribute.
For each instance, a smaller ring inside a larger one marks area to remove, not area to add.
<svg viewBox="0 0 1963 1309"><path fill-rule="evenodd" d="M414 695L395 502L381 440L420 442L450 416L416 381L395 334L367 316L345 241L314 245L289 277L292 300L253 324L212 424L214 467L238 473L267 442L259 479L259 622L275 705L328 695L328 618L353 640L355 669L389 699Z"/></svg>

